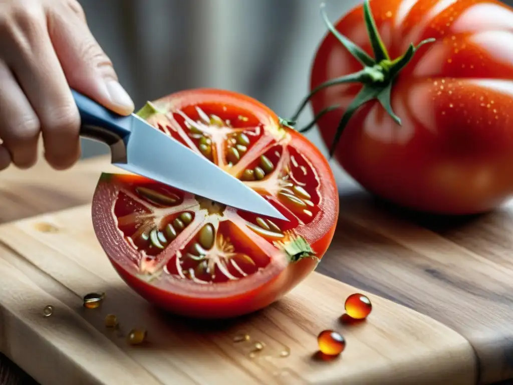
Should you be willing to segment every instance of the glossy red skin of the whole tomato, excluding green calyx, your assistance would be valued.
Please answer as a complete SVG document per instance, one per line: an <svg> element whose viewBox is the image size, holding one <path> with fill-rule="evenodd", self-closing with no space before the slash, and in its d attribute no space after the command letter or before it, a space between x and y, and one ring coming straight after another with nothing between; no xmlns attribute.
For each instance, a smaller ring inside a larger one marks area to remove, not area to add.
<svg viewBox="0 0 513 385"><path fill-rule="evenodd" d="M476 214L513 192L513 63L506 60L513 55L507 40L513 38L507 31L513 12L493 0L449 3L370 2L392 59L410 43L437 41L422 47L392 86L391 105L402 126L369 102L352 116L334 157L385 200L435 214ZM361 5L334 25L372 56ZM310 88L361 68L328 34L315 53ZM314 114L333 104L347 107L360 89L356 84L320 91L311 98ZM328 146L343 112L333 110L318 122Z"/></svg>

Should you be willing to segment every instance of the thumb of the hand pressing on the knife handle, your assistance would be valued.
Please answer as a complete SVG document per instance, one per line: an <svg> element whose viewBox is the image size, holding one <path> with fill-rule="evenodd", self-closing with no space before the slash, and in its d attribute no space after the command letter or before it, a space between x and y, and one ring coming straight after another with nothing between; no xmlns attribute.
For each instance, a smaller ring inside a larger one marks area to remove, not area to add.
<svg viewBox="0 0 513 385"><path fill-rule="evenodd" d="M48 31L71 88L122 115L133 102L117 80L112 62L96 42L85 17L71 9L49 15Z"/></svg>

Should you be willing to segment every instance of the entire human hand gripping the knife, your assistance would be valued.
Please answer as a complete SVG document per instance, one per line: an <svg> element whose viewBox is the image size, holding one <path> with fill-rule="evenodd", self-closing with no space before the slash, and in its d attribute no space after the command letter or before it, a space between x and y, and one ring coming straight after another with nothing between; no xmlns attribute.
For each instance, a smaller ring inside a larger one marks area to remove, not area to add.
<svg viewBox="0 0 513 385"><path fill-rule="evenodd" d="M56 169L80 157L71 88L129 114L134 106L75 0L0 0L0 170L45 158Z"/></svg>

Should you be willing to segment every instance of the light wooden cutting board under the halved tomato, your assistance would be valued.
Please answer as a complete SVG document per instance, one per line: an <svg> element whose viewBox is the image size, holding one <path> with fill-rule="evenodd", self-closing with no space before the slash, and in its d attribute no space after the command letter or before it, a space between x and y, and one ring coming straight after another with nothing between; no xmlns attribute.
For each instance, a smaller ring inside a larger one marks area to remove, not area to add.
<svg viewBox="0 0 513 385"><path fill-rule="evenodd" d="M42 385L80 384L473 384L465 338L407 307L365 293L369 318L344 323L345 298L361 292L312 273L266 310L232 321L165 314L117 276L94 236L90 207L0 226L0 351ZM322 262L321 262L322 263ZM82 297L105 292L98 309ZM49 317L46 305L53 306ZM104 326L113 313L119 331ZM145 328L148 342L126 334ZM342 356L323 360L317 335L342 333ZM248 334L249 341L234 337ZM264 349L250 356L253 344ZM283 351L290 351L282 357Z"/></svg>

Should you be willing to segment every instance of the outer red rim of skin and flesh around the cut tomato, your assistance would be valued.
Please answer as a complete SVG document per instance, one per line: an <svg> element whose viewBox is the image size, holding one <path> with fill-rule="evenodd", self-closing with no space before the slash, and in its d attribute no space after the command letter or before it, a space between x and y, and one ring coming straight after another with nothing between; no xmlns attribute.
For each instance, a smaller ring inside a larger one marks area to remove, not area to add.
<svg viewBox="0 0 513 385"><path fill-rule="evenodd" d="M182 109L190 104L212 101L220 105L227 103L240 107L240 111L233 108L236 113L241 114L244 113L244 108L250 108L260 122L267 125L278 124L278 117L267 107L245 95L230 91L182 91L155 101L154 104L160 108L170 108L172 105L172 108ZM157 123L152 122L154 125ZM322 210L310 223L295 229L298 236L308 241L315 252L315 258L307 257L290 263L282 252L278 252L270 244L267 245L265 241L270 253L268 255L272 258L260 276L254 274L238 281L212 285L198 285L189 280L162 283L156 279L148 282L139 276L133 263L137 252L124 240L112 215L112 207L120 191L119 186L148 180L133 175L110 175L108 178L101 178L97 184L92 203L92 220L96 237L120 277L149 302L174 314L195 318L230 318L252 313L280 299L300 283L317 266L332 240L339 213L339 200L332 171L322 153L302 134L288 128L286 131L290 136L289 146L311 160L321 178L318 190L322 197L322 202L319 203ZM228 208L228 214L225 212L225 215L232 216L235 213L236 210ZM249 228L244 231L253 234Z"/></svg>

